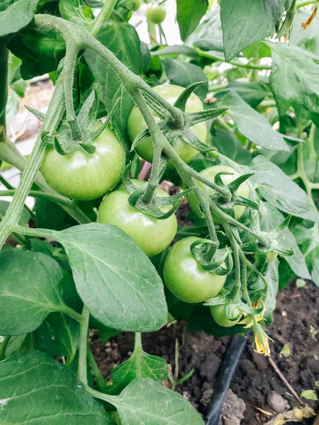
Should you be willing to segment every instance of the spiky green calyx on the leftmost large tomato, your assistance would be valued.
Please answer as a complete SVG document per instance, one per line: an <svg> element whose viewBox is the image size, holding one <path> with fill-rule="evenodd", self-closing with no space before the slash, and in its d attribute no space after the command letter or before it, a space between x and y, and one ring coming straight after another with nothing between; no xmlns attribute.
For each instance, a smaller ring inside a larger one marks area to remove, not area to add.
<svg viewBox="0 0 319 425"><path fill-rule="evenodd" d="M118 101L119 100L120 99L118 99ZM77 150L82 150L88 154L94 154L94 152L96 152L94 141L101 135L103 130L105 130L110 123L113 113L118 106L118 101L113 106L111 113L108 114L106 121L99 125L99 128L94 128L96 126L96 117L99 108L99 96L96 88L94 88L77 115L77 123L81 132L81 139L74 139L69 122L63 120L59 124L55 133L51 134L50 131L43 131L41 133L42 142L45 143L45 145L54 146L56 151L61 155L69 155ZM39 111L35 111L30 107L28 107L28 110L39 120L43 121L45 117L44 114L41 114Z"/></svg>

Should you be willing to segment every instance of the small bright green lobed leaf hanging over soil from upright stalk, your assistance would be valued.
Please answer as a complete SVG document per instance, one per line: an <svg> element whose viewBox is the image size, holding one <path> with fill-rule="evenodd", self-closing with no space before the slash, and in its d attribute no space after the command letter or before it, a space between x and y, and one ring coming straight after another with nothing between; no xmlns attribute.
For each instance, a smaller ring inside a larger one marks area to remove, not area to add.
<svg viewBox="0 0 319 425"><path fill-rule="evenodd" d="M142 351L142 347L134 350L132 356L111 372L112 385L104 390L108 394L118 395L135 378L151 378L163 382L168 375L167 363L163 358L151 356Z"/></svg>

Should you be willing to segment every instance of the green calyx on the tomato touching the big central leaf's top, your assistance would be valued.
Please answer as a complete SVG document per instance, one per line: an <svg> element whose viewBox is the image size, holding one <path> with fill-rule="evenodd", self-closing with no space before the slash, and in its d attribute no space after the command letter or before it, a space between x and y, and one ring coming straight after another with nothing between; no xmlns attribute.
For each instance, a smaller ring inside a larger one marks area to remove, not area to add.
<svg viewBox="0 0 319 425"><path fill-rule="evenodd" d="M181 193L177 193L174 196L153 196L152 200L149 203L145 203L143 197L147 191L147 187L150 183L145 181L145 184L141 187L138 187L133 183L133 181L129 177L130 172L130 164L125 167L122 176L123 186L130 193L128 197L128 203L132 208L144 212L149 217L155 218L157 220L166 220L168 217L174 214L181 205L181 201L184 196L187 195L193 188L187 188L185 191ZM163 208L172 205L167 211L163 212Z"/></svg>

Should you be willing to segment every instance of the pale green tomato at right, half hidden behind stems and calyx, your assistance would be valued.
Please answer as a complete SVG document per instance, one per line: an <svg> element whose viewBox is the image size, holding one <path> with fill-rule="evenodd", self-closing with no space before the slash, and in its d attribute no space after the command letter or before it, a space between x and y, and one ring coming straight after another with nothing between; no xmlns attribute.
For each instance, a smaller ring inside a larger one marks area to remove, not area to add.
<svg viewBox="0 0 319 425"><path fill-rule="evenodd" d="M220 171L228 171L229 173L233 173L233 175L223 174L223 176L221 176L225 184L231 183L232 181L234 181L240 176L240 174L235 169L226 165L210 166L208 169L201 171L200 174L201 176L205 177L209 181L214 181L216 174L220 173ZM215 192L212 188L209 188L204 183L201 183L201 181L198 181L198 186L208 196L213 195L213 193ZM237 193L238 195L243 196L244 198L247 198L249 196L250 186L248 185L246 181L244 181L244 183L240 185L240 187L237 190ZM189 195L188 200L189 200L189 206L191 207L191 210L194 212L194 214L198 215L198 200L196 196L194 195L194 193L191 193ZM238 219L244 214L245 207L243 205L235 205L234 210L235 210L235 218ZM218 218L215 215L213 215L213 220L216 225L220 224Z"/></svg>

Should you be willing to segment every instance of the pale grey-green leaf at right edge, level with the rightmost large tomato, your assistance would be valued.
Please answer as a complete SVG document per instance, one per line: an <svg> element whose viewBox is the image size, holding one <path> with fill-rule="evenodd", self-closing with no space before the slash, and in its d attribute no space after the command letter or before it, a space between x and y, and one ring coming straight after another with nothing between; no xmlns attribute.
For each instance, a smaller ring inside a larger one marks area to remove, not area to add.
<svg viewBox="0 0 319 425"><path fill-rule="evenodd" d="M288 214L319 222L318 211L312 207L306 192L278 166L260 155L253 159L250 169L255 173L250 181L269 203Z"/></svg>

